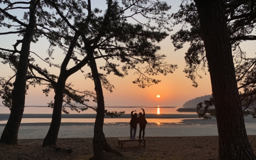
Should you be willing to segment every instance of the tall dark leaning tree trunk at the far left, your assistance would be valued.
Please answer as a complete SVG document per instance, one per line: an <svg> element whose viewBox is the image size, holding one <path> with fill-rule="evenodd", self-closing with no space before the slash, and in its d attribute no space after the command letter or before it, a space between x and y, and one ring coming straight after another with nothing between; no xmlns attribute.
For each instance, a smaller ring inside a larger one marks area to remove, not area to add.
<svg viewBox="0 0 256 160"><path fill-rule="evenodd" d="M26 94L26 74L28 68L28 56L30 52L30 43L34 34L36 24L35 8L40 0L32 0L29 13L29 24L26 27L25 35L22 39L19 63L12 91L12 108L9 119L2 133L1 144L17 144L19 125L22 119L25 94Z"/></svg>

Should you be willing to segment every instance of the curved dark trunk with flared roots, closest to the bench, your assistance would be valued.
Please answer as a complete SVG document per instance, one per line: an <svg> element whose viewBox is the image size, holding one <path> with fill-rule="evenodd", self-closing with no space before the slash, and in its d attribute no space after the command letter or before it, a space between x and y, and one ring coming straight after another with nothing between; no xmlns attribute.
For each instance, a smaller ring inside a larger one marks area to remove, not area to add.
<svg viewBox="0 0 256 160"><path fill-rule="evenodd" d="M89 48L89 47L88 47ZM93 136L93 157L90 160L104 160L103 150L106 152L114 152L116 154L122 155L117 150L111 148L106 141L105 134L103 133L104 115L105 115L105 104L102 91L101 80L97 70L97 65L95 58L93 56L93 50L87 50L90 68L95 84L95 91L97 96L97 114L94 124L94 136Z"/></svg>

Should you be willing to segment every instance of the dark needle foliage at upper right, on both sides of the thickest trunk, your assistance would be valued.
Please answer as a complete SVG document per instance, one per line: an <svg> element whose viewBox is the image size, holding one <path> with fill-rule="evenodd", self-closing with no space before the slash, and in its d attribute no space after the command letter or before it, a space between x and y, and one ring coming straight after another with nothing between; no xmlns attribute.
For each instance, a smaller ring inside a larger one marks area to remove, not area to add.
<svg viewBox="0 0 256 160"><path fill-rule="evenodd" d="M237 65L236 75L239 84L245 79L248 79L247 83L250 81L253 84L254 82L251 77L247 76L254 70L255 58L246 58L245 52L240 48L240 43L246 40L256 40L256 36L251 35L255 30L255 6L254 0L224 0L227 34L232 45L234 62ZM195 3L190 0L183 0L179 11L174 13L172 17L174 25L182 25L181 29L171 36L175 50L182 48L186 42L190 43L185 56L186 68L184 72L194 83L193 86L196 87L198 85L196 77L201 78L198 70L205 71L207 59Z"/></svg>

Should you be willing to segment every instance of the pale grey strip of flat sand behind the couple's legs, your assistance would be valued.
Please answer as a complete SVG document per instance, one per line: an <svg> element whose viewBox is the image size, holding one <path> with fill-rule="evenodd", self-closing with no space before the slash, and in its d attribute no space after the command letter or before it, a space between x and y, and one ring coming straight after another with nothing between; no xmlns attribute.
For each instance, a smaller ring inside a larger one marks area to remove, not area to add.
<svg viewBox="0 0 256 160"><path fill-rule="evenodd" d="M189 121L189 120L188 120ZM45 138L50 126L20 126L18 139L40 139ZM256 134L255 122L245 123L247 135ZM0 127L0 134L4 127ZM108 124L103 126L105 137L126 137L130 134L129 124ZM59 138L92 138L94 133L94 125L69 125L60 126ZM139 127L136 135L139 135ZM216 136L218 135L218 127L216 122L207 124L198 124L196 121L187 123L168 123L147 125L145 129L146 137L176 137L176 136Z"/></svg>

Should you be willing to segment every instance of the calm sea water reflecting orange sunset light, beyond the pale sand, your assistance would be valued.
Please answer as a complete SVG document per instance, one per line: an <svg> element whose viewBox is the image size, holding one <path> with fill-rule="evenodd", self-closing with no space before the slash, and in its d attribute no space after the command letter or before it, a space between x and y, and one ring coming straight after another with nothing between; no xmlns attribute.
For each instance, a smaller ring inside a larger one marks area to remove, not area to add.
<svg viewBox="0 0 256 160"><path fill-rule="evenodd" d="M143 112L142 109L145 109L147 122L149 123L179 123L184 118L196 118L196 112L178 112L177 109L182 107L172 107L172 106L107 106L106 109L109 111L125 111L125 117L116 117L116 118L105 118L105 123L114 123L114 122L129 122L130 121L130 112L136 110L137 113ZM70 112L69 115L73 118L64 118L66 114L63 113L62 123L93 123L95 118L81 118L79 115L92 115L96 114L93 109L87 109L83 112L77 113L67 108ZM10 110L6 107L0 107L0 124L6 124L8 116L1 114L9 114ZM134 112L135 113L135 112ZM29 115L36 116L29 116ZM42 115L44 114L44 115ZM49 116L45 115L48 114ZM25 107L24 115L21 123L50 123L51 122L52 109L49 107ZM77 117L76 117L77 115ZM150 116L151 115L151 116ZM160 118L155 118L152 115L159 115ZM166 115L164 119L161 119L161 115ZM186 116L187 115L187 116ZM190 116L192 115L192 116ZM168 117L169 116L169 117Z"/></svg>

